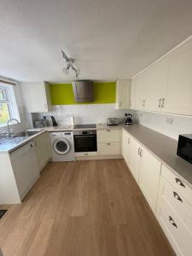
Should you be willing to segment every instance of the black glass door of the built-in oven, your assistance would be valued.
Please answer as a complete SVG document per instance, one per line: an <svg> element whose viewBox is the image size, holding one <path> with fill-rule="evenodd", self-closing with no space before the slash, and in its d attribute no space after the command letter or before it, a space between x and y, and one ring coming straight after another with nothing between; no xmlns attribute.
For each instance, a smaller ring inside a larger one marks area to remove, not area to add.
<svg viewBox="0 0 192 256"><path fill-rule="evenodd" d="M74 135L75 152L97 151L96 135Z"/></svg>

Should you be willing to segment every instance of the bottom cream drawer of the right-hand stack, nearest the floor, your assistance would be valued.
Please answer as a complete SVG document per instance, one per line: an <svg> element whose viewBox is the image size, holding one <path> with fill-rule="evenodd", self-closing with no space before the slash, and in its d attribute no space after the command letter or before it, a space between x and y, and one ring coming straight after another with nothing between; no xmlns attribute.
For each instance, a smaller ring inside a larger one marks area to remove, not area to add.
<svg viewBox="0 0 192 256"><path fill-rule="evenodd" d="M159 221L177 255L191 255L192 233L166 201L160 209Z"/></svg>

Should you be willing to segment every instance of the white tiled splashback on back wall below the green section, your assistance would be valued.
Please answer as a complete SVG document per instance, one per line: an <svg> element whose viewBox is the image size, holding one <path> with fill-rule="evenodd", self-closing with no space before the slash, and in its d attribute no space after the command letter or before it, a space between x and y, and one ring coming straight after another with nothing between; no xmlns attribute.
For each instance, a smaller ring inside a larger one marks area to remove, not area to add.
<svg viewBox="0 0 192 256"><path fill-rule="evenodd" d="M55 105L50 113L33 114L33 120L53 115L58 125L69 125L74 115L76 124L106 124L108 117L123 119L125 112L115 109L115 104Z"/></svg>

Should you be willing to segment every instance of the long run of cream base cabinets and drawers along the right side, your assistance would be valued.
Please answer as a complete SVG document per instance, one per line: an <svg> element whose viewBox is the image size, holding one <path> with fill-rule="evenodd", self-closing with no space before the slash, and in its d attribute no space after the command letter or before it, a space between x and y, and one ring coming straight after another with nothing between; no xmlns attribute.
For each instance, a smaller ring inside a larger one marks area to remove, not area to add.
<svg viewBox="0 0 192 256"><path fill-rule="evenodd" d="M175 253L192 255L192 189L128 131L122 154Z"/></svg>

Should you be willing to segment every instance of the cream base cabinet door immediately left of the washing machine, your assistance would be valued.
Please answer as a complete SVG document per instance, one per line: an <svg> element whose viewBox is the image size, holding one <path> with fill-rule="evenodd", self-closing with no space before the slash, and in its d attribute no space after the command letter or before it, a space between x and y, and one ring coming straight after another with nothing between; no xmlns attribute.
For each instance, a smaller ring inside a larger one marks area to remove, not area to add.
<svg viewBox="0 0 192 256"><path fill-rule="evenodd" d="M49 134L44 132L33 139L35 154L38 160L39 171L44 169L44 166L49 162L50 148L49 148Z"/></svg>

